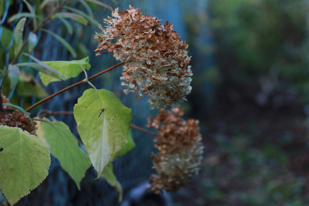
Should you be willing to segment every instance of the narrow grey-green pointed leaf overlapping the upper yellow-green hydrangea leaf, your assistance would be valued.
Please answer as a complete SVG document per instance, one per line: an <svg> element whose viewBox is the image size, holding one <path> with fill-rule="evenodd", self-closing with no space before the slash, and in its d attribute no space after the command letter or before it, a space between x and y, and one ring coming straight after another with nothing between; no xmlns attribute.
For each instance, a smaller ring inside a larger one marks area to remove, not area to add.
<svg viewBox="0 0 309 206"><path fill-rule="evenodd" d="M29 63L20 63L20 64L16 64L18 66L31 66L34 69L37 69L40 72L43 72L44 74L47 74L51 77L54 77L58 80L64 81L66 80L66 78L60 74L58 71L56 71L55 69L53 69L52 67L50 67L49 65L43 63L42 61L40 61L39 59L37 59L36 57L31 56L30 54L27 53L22 53L23 55L30 57L34 62L29 62Z"/></svg>

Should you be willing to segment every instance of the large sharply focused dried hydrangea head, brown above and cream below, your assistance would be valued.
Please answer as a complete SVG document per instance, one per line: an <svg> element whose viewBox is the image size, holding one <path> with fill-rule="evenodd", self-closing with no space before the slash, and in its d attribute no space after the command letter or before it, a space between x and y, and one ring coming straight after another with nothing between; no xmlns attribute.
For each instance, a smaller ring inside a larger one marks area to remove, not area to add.
<svg viewBox="0 0 309 206"><path fill-rule="evenodd" d="M94 35L99 42L96 56L114 53L117 60L131 58L121 77L124 92L134 92L136 98L149 95L150 109L179 107L178 101L186 100L192 89L188 43L180 41L172 23L162 24L158 17L145 16L131 5L124 12L112 10L112 17L104 19L105 29L99 25L103 33Z"/></svg>

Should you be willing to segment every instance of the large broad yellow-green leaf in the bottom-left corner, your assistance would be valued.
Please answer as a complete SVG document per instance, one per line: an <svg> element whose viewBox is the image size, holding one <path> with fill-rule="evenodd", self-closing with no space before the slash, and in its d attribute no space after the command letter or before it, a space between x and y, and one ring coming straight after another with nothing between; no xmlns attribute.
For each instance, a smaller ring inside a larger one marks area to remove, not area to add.
<svg viewBox="0 0 309 206"><path fill-rule="evenodd" d="M0 187L13 205L48 175L47 145L21 128L0 125Z"/></svg>

